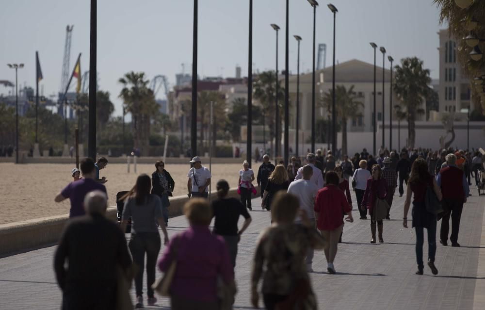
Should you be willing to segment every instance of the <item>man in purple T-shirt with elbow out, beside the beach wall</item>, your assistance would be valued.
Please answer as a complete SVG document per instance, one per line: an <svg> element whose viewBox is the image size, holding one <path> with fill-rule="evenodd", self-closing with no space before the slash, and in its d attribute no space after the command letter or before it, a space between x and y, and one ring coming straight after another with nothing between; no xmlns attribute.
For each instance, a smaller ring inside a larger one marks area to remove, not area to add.
<svg viewBox="0 0 485 310"><path fill-rule="evenodd" d="M96 166L91 158L85 158L81 161L81 172L84 177L83 179L69 183L61 193L57 194L54 198L55 202L61 202L69 198L71 202L69 217L81 216L86 213L84 211L83 202L87 193L96 190L106 193L106 187L95 180Z"/></svg>

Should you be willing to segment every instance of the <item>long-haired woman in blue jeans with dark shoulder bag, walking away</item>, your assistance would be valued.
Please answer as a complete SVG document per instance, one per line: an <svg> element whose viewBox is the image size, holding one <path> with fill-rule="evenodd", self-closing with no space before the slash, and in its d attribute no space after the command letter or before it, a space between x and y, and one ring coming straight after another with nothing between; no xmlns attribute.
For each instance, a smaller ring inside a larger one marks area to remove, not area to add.
<svg viewBox="0 0 485 310"><path fill-rule="evenodd" d="M403 226L407 228L407 212L413 196L413 226L416 229L416 261L418 262L417 275L423 274L423 243L424 229L428 230L428 266L431 268L433 275L438 274L435 266L436 254L436 216L426 210L424 203L426 189L433 189L439 201L443 198L441 190L436 183L436 179L429 173L428 165L423 159L416 160L411 166L411 175L408 181L409 186L406 190L406 201L404 202Z"/></svg>

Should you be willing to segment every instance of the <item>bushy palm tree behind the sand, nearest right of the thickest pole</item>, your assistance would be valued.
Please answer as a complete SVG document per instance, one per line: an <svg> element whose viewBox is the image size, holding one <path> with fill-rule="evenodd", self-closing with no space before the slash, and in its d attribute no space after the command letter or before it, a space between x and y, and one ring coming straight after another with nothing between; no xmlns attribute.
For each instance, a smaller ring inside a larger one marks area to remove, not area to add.
<svg viewBox="0 0 485 310"><path fill-rule="evenodd" d="M131 113L134 147L140 148L143 156L148 155L150 121L158 112L153 91L147 87L145 73L133 71L118 80L123 84L119 97L124 101L126 112Z"/></svg>

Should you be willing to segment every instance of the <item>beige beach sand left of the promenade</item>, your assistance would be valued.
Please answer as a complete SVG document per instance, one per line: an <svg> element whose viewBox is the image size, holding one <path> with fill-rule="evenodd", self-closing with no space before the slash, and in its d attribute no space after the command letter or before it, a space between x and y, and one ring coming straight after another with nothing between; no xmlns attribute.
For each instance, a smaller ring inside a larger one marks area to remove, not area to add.
<svg viewBox="0 0 485 310"><path fill-rule="evenodd" d="M254 165L257 170L258 164ZM71 164L0 163L0 224L19 222L52 215L67 214L69 200L55 203L54 197L72 180L70 172L75 166ZM167 164L165 167L175 180L174 196L187 194L188 164ZM239 163L212 164L212 185L226 179L231 187L236 187ZM127 191L135 184L141 173L149 176L155 171L154 164L138 164L137 174L127 173L127 165L122 163L108 164L100 171L100 177L106 177L108 205L115 205L116 193Z"/></svg>

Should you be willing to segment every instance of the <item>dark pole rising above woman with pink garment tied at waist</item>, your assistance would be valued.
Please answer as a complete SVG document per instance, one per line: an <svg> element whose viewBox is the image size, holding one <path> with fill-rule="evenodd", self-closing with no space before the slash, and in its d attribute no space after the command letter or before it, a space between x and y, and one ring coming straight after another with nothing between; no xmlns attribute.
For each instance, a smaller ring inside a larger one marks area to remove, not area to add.
<svg viewBox="0 0 485 310"><path fill-rule="evenodd" d="M253 140L253 0L249 0L249 42L247 60L247 138L246 160L251 168L252 140ZM215 135L213 137L215 139ZM258 159L256 159L258 160Z"/></svg>

